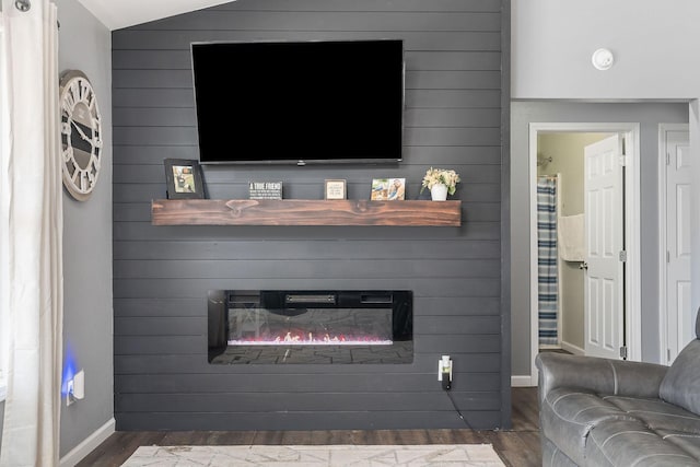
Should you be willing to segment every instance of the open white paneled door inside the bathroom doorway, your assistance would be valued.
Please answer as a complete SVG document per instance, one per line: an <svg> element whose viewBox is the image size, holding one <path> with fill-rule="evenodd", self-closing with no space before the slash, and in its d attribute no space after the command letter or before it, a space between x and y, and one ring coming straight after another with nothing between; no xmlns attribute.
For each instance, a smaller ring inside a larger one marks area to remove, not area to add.
<svg viewBox="0 0 700 467"><path fill-rule="evenodd" d="M584 343L586 355L620 358L623 345L622 136L584 150L586 264Z"/></svg>

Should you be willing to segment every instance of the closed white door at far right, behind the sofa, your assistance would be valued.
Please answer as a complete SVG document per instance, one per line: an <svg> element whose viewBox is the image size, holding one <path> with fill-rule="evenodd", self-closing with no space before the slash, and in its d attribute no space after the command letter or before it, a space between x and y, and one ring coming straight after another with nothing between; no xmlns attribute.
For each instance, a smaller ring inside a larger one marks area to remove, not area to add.
<svg viewBox="0 0 700 467"><path fill-rule="evenodd" d="M690 307L690 141L666 131L666 355L670 364L695 338Z"/></svg>

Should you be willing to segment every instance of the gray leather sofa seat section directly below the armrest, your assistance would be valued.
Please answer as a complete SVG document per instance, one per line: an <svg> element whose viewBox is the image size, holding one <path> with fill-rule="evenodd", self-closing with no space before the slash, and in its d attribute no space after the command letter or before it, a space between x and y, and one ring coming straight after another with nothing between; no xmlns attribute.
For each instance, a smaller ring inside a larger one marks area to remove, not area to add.
<svg viewBox="0 0 700 467"><path fill-rule="evenodd" d="M635 419L594 393L567 387L550 390L540 407L542 434L579 465L590 431L606 420Z"/></svg>

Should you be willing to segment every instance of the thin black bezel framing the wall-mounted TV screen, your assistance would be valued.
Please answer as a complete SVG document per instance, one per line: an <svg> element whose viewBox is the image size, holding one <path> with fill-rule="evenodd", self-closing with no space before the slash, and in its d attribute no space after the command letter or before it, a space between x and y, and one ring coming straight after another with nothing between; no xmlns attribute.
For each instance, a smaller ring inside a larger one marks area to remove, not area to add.
<svg viewBox="0 0 700 467"><path fill-rule="evenodd" d="M399 147L399 157L353 157L353 159L230 159L221 161L202 161L199 150L199 115L197 108L197 84L195 81L194 46L210 44L308 44L308 43L372 43L372 42L396 42L401 44L401 136ZM200 165L320 165L320 164L343 164L343 165L394 165L404 160L404 138L406 131L406 49L404 39L397 38L374 38L374 39L310 39L310 40L200 40L191 42L190 65L192 73L192 94L195 97L195 120L197 132L198 160Z"/></svg>

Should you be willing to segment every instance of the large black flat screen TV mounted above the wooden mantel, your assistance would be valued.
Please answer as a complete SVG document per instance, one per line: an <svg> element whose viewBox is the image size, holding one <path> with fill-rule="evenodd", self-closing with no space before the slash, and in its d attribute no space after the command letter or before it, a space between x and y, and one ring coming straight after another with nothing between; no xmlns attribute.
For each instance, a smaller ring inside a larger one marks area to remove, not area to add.
<svg viewBox="0 0 700 467"><path fill-rule="evenodd" d="M402 40L191 44L202 164L400 161Z"/></svg>

